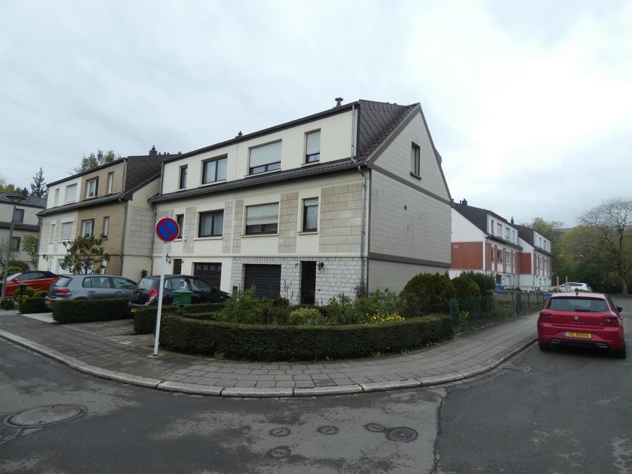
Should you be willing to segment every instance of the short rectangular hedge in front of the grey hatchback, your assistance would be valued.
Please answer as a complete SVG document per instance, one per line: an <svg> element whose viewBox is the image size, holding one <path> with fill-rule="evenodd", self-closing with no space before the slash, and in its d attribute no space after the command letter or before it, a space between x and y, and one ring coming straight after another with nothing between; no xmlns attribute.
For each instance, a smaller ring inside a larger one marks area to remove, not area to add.
<svg viewBox="0 0 632 474"><path fill-rule="evenodd" d="M131 317L128 301L129 298L55 301L53 320L60 323L124 320Z"/></svg>

